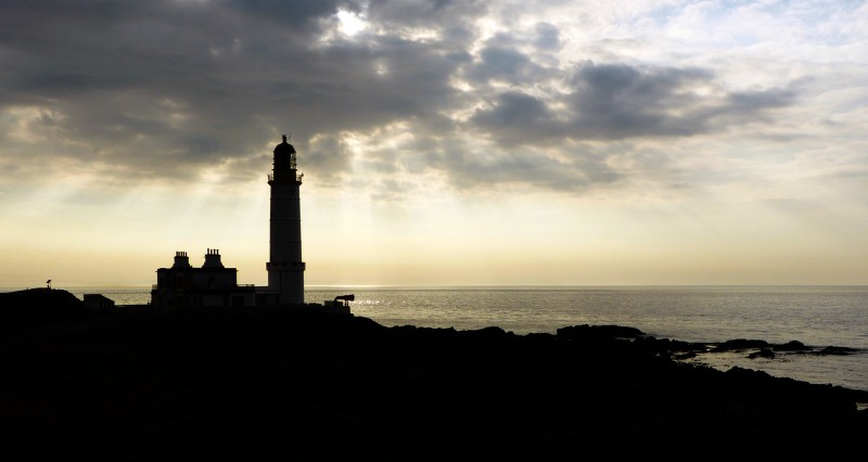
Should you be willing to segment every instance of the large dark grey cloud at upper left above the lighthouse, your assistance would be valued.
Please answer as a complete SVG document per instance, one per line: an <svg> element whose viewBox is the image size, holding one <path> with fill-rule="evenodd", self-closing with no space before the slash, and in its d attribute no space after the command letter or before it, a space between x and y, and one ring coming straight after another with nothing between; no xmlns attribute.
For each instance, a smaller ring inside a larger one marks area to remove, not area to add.
<svg viewBox="0 0 868 462"><path fill-rule="evenodd" d="M365 130L449 100L460 53L387 35L322 46L318 21L339 5L354 3L24 2L3 15L16 72L0 76L0 113L30 114L14 126L28 133L17 144L37 156L101 161L159 180L256 155L283 131L314 139ZM12 129L0 127L7 138Z"/></svg>

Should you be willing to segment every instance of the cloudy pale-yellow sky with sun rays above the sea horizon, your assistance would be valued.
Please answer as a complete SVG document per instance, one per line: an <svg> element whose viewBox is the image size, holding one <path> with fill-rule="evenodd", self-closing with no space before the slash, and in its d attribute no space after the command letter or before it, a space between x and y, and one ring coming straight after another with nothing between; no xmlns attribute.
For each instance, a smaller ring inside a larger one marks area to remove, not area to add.
<svg viewBox="0 0 868 462"><path fill-rule="evenodd" d="M868 3L0 2L0 286L868 284Z"/></svg>

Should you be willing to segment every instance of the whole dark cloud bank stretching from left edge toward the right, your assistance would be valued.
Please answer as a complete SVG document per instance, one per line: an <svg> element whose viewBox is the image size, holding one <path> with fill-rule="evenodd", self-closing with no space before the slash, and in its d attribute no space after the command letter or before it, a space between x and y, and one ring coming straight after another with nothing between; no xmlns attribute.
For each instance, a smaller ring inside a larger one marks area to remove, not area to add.
<svg viewBox="0 0 868 462"><path fill-rule="evenodd" d="M339 10L365 12L369 27L335 35ZM266 145L292 131L307 171L340 175L350 168L343 133L404 123L413 149L359 155L395 171L448 168L459 188L579 190L623 175L601 142L728 130L797 95L726 91L701 68L564 62L547 23L471 54L473 22L489 13L446 0L8 1L4 171L44 155L146 181L227 162L259 176Z"/></svg>

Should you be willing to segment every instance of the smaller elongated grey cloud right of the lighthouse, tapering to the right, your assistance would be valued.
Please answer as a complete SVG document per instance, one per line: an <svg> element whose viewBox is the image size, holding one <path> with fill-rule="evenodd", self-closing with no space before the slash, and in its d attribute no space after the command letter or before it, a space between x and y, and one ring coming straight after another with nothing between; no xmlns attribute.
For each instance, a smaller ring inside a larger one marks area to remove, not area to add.
<svg viewBox="0 0 868 462"><path fill-rule="evenodd" d="M582 64L569 84L565 94L503 92L471 121L501 144L690 137L764 119L796 97L780 88L728 92L705 69L626 64Z"/></svg>

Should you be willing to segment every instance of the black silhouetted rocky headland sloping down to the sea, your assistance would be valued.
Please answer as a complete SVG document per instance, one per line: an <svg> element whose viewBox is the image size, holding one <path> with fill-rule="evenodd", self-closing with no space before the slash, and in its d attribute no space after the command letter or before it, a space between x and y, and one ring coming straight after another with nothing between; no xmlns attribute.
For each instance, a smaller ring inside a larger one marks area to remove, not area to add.
<svg viewBox="0 0 868 462"><path fill-rule="evenodd" d="M0 309L3 460L829 459L868 435L867 393L680 363L699 346L628 326L89 311L48 288Z"/></svg>

